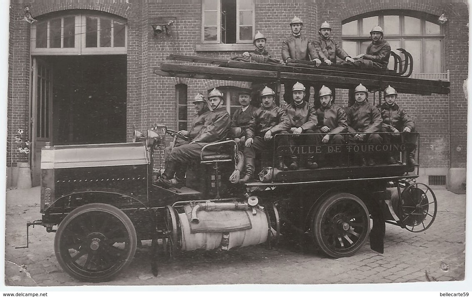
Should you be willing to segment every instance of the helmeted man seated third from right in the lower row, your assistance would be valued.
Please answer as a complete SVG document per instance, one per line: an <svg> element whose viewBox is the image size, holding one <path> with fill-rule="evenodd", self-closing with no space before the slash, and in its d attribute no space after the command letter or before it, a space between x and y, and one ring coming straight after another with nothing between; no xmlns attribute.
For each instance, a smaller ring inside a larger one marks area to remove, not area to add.
<svg viewBox="0 0 472 297"><path fill-rule="evenodd" d="M318 125L315 133L324 133L321 139L323 144L344 144L343 134L347 132L347 118L344 109L333 103L331 89L326 86L320 88L320 108L316 110ZM341 158L336 158L337 166L343 164Z"/></svg>

